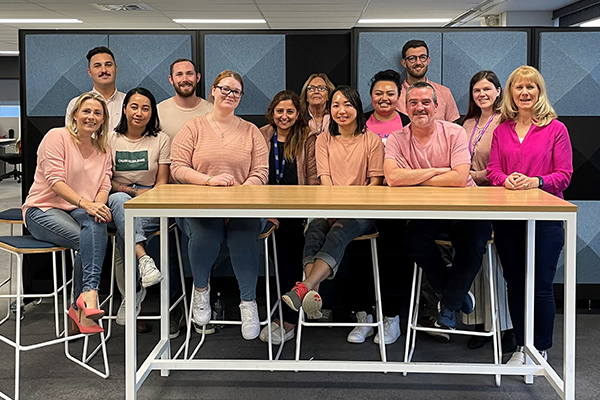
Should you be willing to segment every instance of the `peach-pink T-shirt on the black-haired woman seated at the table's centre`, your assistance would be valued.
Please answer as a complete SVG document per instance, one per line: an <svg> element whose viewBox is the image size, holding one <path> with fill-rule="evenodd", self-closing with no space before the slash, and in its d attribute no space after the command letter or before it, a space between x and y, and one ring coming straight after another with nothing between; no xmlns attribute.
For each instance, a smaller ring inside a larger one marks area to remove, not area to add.
<svg viewBox="0 0 600 400"><path fill-rule="evenodd" d="M383 176L383 144L370 130L352 138L323 132L316 152L318 176L329 176L335 186L366 186L369 178Z"/></svg>

